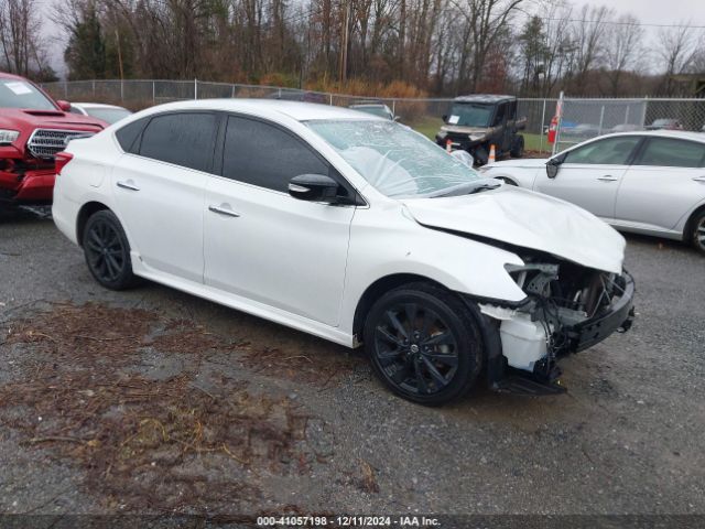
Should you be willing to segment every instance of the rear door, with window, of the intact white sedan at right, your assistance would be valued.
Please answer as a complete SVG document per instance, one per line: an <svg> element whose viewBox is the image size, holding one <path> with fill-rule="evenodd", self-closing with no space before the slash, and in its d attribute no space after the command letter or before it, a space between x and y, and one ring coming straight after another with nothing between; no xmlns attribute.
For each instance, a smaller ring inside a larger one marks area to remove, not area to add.
<svg viewBox="0 0 705 529"><path fill-rule="evenodd" d="M705 199L705 143L649 138L626 172L616 219L647 229L670 230Z"/></svg>

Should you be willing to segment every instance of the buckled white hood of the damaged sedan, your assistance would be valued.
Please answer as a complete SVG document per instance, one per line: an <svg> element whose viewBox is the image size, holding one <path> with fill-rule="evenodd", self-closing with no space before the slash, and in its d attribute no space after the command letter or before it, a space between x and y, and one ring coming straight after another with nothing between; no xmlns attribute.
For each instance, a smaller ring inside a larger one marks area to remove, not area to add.
<svg viewBox="0 0 705 529"><path fill-rule="evenodd" d="M473 195L401 201L427 227L540 250L578 264L621 273L625 238L573 204L502 185Z"/></svg>

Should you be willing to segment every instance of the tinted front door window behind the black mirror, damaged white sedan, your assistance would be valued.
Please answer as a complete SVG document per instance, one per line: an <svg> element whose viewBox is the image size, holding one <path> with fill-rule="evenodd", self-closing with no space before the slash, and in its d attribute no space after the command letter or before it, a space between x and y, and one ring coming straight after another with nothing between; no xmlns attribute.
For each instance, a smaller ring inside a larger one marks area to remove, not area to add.
<svg viewBox="0 0 705 529"><path fill-rule="evenodd" d="M225 177L286 193L289 181L306 173L328 174L328 164L302 140L262 121L228 118Z"/></svg>

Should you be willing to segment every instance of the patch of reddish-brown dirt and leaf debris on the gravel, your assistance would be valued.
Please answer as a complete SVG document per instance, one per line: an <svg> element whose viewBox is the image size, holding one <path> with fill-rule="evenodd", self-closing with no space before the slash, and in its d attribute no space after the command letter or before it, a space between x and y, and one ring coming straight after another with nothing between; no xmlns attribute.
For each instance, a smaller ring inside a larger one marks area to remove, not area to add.
<svg viewBox="0 0 705 529"><path fill-rule="evenodd" d="M228 377L217 395L200 387L198 366L214 352L242 354L251 366L262 353L192 322L57 304L13 322L6 336L6 346L32 353L0 387L3 422L24 444L78 464L111 509L248 511L260 476L300 475L329 455L308 441L312 418L288 397L254 395ZM148 378L134 371L145 349L191 355L189 368Z"/></svg>

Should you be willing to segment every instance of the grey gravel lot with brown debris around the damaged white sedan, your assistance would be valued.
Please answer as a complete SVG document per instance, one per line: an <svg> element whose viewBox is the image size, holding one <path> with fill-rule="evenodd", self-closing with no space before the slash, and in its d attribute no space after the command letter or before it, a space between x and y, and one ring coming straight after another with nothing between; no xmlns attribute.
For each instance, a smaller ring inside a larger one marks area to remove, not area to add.
<svg viewBox="0 0 705 529"><path fill-rule="evenodd" d="M564 396L429 409L356 352L148 283L99 288L0 218L0 512L705 515L705 259L629 237L631 332Z"/></svg>

